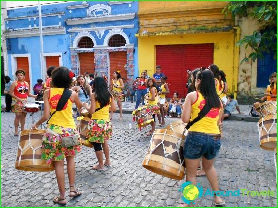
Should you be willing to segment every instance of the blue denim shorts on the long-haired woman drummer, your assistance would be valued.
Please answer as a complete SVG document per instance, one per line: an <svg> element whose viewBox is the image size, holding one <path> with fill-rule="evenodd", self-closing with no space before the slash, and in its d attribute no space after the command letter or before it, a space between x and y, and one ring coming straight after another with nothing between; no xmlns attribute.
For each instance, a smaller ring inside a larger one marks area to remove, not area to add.
<svg viewBox="0 0 278 208"><path fill-rule="evenodd" d="M204 156L206 159L213 159L219 152L220 134L206 134L189 131L184 144L184 158L198 159Z"/></svg>

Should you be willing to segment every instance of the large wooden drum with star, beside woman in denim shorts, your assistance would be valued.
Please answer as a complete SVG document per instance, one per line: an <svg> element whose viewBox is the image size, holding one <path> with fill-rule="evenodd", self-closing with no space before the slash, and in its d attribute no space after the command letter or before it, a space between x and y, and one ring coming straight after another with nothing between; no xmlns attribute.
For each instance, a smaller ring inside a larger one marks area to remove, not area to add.
<svg viewBox="0 0 278 208"><path fill-rule="evenodd" d="M182 180L185 175L184 141L185 136L181 133L156 129L143 160L143 167L159 175Z"/></svg>

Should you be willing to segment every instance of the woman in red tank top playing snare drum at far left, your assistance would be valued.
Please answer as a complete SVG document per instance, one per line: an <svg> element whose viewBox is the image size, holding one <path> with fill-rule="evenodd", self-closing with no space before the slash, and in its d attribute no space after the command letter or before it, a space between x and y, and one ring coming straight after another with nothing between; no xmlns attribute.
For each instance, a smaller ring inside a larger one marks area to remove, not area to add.
<svg viewBox="0 0 278 208"><path fill-rule="evenodd" d="M37 96L30 93L30 87L28 82L24 81L25 71L17 70L15 72L17 80L14 81L9 90L9 94L12 96L12 112L15 113L14 119L14 136L18 136L18 125L21 124L21 131L24 130L26 112L24 111L24 104L27 103L27 98Z"/></svg>

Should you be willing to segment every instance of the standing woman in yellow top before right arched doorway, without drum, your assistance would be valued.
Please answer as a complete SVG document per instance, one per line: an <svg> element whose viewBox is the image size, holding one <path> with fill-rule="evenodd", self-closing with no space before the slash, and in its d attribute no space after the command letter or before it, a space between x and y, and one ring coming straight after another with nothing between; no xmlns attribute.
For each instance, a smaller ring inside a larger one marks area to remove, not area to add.
<svg viewBox="0 0 278 208"><path fill-rule="evenodd" d="M118 109L120 111L120 118L119 120L122 121L123 118L123 108L122 108L122 101L124 101L124 96L122 93L122 89L124 88L124 82L121 79L121 74L120 71L114 71L114 79L111 81L111 94L114 96L115 101L118 104ZM110 119L113 118L113 112L111 112L111 117Z"/></svg>

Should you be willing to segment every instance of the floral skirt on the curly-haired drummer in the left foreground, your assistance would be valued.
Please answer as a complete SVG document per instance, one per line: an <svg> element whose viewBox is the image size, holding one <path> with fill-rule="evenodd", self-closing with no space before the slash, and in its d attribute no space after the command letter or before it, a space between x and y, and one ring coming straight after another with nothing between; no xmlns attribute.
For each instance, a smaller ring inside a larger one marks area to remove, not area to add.
<svg viewBox="0 0 278 208"><path fill-rule="evenodd" d="M51 129L57 134L72 136L78 134L76 129L48 124L43 136L42 144L42 159L46 160L47 164L51 161L63 161L67 156L75 156L81 151L81 143L72 147L62 147L61 138L48 131ZM80 138L79 138L80 140Z"/></svg>

